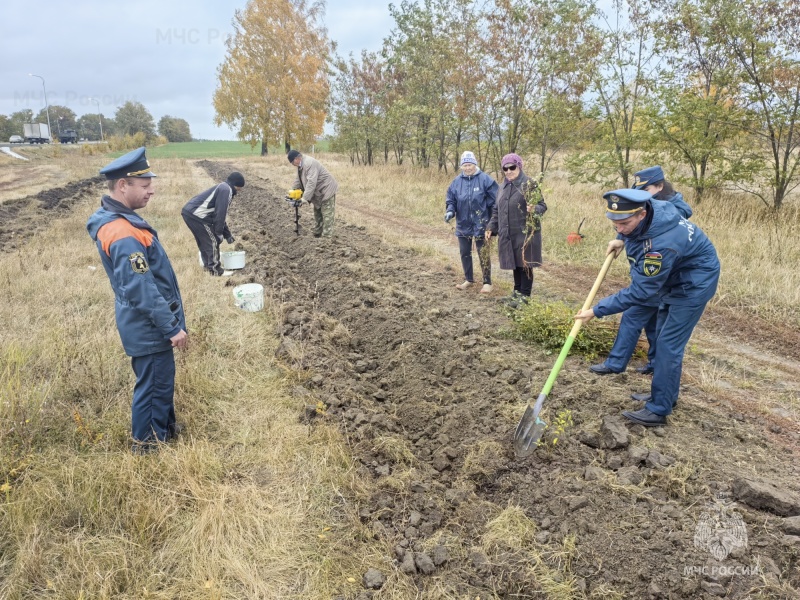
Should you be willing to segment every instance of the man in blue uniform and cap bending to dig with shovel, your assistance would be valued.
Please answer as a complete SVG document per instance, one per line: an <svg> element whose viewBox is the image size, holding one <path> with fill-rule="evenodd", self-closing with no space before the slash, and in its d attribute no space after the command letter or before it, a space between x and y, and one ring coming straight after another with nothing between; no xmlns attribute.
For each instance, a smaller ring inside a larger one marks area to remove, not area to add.
<svg viewBox="0 0 800 600"><path fill-rule="evenodd" d="M635 394L635 400L646 402L644 408L622 414L647 427L664 425L678 401L686 344L717 291L719 259L708 237L669 202L627 189L607 192L603 198L608 203L606 216L621 237L609 244L609 252L625 248L631 284L575 318L588 322L658 301L650 394Z"/></svg>

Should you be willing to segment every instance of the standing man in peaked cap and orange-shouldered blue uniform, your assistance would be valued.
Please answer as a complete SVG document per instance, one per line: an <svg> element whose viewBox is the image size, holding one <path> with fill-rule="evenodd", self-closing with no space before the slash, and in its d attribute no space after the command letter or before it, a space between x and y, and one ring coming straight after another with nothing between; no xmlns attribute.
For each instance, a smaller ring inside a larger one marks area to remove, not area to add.
<svg viewBox="0 0 800 600"><path fill-rule="evenodd" d="M145 453L176 434L173 349L186 348L186 318L178 280L158 234L135 212L155 193L156 175L145 149L121 156L100 174L109 194L86 228L114 290L117 329L136 374L133 450Z"/></svg>

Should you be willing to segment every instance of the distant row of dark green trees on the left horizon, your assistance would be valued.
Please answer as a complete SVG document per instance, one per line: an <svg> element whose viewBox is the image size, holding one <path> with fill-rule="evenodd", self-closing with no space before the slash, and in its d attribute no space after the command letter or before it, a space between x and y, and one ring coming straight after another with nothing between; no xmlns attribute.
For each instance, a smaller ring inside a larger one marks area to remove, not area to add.
<svg viewBox="0 0 800 600"><path fill-rule="evenodd" d="M170 142L192 141L189 123L185 119L165 115L159 119L156 128L153 116L144 105L141 102L130 101L118 107L113 117L98 113L88 113L78 117L69 107L57 104L41 109L38 114L24 109L9 116L0 115L0 141L7 141L12 135L22 135L25 123L47 123L48 111L51 136L54 139L58 137L59 132L74 129L80 138L91 141L100 140L101 131L104 139L141 133L147 140L161 135Z"/></svg>

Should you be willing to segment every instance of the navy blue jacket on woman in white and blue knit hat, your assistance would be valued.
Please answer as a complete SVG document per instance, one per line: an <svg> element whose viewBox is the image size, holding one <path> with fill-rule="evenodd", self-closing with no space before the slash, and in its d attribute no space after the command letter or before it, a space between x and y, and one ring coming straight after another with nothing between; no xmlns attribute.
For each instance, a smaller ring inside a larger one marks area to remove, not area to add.
<svg viewBox="0 0 800 600"><path fill-rule="evenodd" d="M456 216L456 236L480 237L492 216L497 182L478 169L472 175L460 173L447 188L445 210Z"/></svg>

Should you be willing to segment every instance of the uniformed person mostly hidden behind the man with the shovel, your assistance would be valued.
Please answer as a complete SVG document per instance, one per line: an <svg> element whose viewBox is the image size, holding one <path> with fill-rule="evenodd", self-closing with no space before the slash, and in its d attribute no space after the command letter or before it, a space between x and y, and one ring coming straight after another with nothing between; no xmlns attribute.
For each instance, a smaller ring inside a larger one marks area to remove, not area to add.
<svg viewBox="0 0 800 600"><path fill-rule="evenodd" d="M682 217L688 219L692 216L692 208L683 199L683 194L676 192L672 184L666 181L663 169L656 165L638 171L634 175L633 189L644 190L653 195L654 200L664 200L671 203ZM617 238L621 239L621 238ZM608 353L608 358L599 365L592 365L589 370L596 375L610 375L622 373L636 350L636 344L642 329L647 336L647 364L636 369L643 375L653 374L653 362L656 354L656 319L658 317L658 301L650 304L632 306L622 313L619 331L614 340L614 345Z"/></svg>

